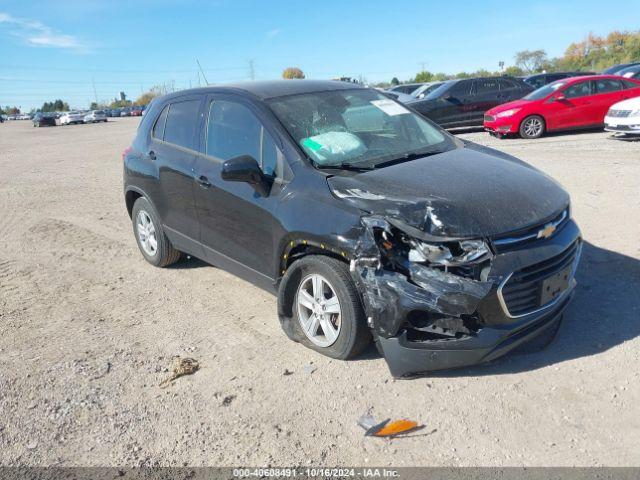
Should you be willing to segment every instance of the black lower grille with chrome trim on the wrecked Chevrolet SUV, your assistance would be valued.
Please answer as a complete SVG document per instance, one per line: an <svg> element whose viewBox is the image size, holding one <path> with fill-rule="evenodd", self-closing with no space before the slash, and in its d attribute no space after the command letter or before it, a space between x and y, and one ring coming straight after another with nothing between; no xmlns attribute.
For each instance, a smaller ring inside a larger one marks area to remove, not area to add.
<svg viewBox="0 0 640 480"><path fill-rule="evenodd" d="M575 265L578 259L579 248L580 241L578 240L555 257L530 265L511 274L507 282L502 286L500 292L508 313L512 317L519 317L553 303L555 300L552 300L546 305L541 304L542 283L545 279L561 272L566 267Z"/></svg>

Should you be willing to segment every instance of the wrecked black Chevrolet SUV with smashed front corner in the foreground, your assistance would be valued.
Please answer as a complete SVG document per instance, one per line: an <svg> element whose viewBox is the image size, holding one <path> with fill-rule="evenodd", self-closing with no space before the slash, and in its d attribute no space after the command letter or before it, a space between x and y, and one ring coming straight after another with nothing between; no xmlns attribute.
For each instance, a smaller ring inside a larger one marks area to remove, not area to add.
<svg viewBox="0 0 640 480"><path fill-rule="evenodd" d="M552 336L581 249L569 196L384 94L331 81L153 101L123 152L144 258L183 253L277 295L287 335L395 376Z"/></svg>

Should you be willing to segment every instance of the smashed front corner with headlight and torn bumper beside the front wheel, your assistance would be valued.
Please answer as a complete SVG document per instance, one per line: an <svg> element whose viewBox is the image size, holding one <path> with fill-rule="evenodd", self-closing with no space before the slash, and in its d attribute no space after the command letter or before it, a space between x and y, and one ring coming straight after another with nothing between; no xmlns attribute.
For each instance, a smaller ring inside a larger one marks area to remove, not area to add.
<svg viewBox="0 0 640 480"><path fill-rule="evenodd" d="M477 331L476 309L492 287L482 281L492 258L482 240L427 243L377 216L362 225L351 272L375 333L439 340Z"/></svg>

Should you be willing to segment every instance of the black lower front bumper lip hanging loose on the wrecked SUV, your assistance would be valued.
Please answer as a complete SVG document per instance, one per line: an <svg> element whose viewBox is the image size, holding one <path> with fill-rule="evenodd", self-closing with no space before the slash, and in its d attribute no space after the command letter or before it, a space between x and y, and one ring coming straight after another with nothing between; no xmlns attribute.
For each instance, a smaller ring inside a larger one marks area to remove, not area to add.
<svg viewBox="0 0 640 480"><path fill-rule="evenodd" d="M488 362L543 334L555 334L573 296L574 285L575 282L550 311L508 325L485 326L473 336L420 342L409 340L404 330L396 337L380 337L378 341L394 377L412 377Z"/></svg>

